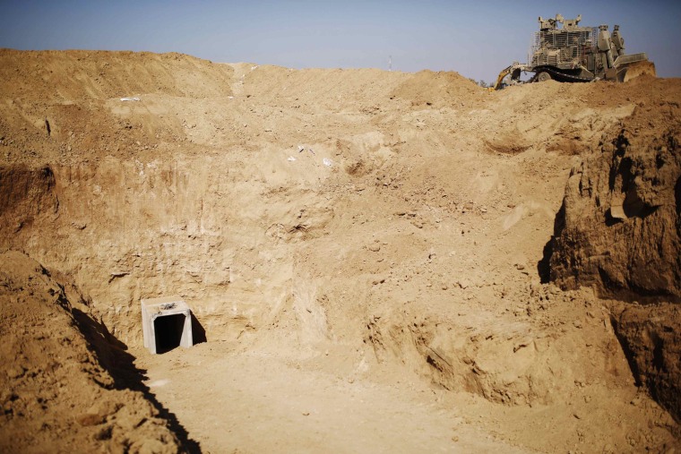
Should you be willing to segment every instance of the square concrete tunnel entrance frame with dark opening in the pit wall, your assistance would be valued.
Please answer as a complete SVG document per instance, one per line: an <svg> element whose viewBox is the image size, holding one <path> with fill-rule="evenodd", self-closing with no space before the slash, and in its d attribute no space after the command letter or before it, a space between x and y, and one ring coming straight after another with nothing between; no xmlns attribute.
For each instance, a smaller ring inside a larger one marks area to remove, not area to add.
<svg viewBox="0 0 681 454"><path fill-rule="evenodd" d="M151 354L192 347L192 312L180 296L142 299L142 336Z"/></svg>

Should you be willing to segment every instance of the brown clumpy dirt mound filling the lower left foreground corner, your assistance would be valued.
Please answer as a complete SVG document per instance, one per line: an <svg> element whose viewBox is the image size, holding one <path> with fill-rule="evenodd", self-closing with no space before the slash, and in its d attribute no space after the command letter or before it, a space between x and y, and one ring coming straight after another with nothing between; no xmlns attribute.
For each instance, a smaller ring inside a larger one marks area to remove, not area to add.
<svg viewBox="0 0 681 454"><path fill-rule="evenodd" d="M117 390L100 364L102 346L83 332L97 322L75 289L22 253L0 253L0 263L0 450L178 452L156 408Z"/></svg>

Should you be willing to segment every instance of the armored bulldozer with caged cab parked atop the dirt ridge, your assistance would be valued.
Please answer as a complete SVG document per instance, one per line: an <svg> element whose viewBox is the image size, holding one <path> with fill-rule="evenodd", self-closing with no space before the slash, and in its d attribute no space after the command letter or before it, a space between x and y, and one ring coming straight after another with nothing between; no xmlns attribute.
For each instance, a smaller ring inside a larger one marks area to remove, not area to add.
<svg viewBox="0 0 681 454"><path fill-rule="evenodd" d="M582 15L565 19L539 16L539 31L532 35L528 63L515 62L496 79L495 90L534 81L628 81L642 74L655 75L655 65L645 53L625 55L625 39L616 25L581 27ZM559 27L559 24L561 25ZM521 81L521 73L533 73Z"/></svg>

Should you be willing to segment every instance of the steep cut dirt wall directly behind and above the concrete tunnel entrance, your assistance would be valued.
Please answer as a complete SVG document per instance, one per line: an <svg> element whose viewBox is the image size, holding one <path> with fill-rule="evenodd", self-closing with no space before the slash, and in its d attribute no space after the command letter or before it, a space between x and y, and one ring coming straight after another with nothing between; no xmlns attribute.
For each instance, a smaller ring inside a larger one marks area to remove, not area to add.
<svg viewBox="0 0 681 454"><path fill-rule="evenodd" d="M283 210L244 205L244 183L225 164L105 158L34 171L4 167L0 181L13 188L4 193L12 205L4 226L14 227L4 246L59 263L125 342L141 336L139 300L169 294L191 300L213 338L237 336L289 293L291 262L277 238L314 235L332 210L305 193L295 193L297 201ZM270 276L267 286L249 295L263 275Z"/></svg>

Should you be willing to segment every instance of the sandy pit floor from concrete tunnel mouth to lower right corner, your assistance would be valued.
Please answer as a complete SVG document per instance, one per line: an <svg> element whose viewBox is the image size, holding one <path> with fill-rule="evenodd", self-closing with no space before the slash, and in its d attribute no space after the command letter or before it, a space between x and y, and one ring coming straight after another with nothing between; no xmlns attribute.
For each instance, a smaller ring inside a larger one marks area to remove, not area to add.
<svg viewBox="0 0 681 454"><path fill-rule="evenodd" d="M337 343L132 353L144 384L204 452L637 452L676 443L665 429L673 419L634 386L617 350L609 367L618 380L577 381L529 407L447 390Z"/></svg>

